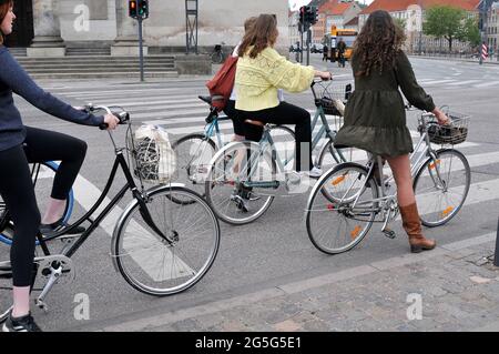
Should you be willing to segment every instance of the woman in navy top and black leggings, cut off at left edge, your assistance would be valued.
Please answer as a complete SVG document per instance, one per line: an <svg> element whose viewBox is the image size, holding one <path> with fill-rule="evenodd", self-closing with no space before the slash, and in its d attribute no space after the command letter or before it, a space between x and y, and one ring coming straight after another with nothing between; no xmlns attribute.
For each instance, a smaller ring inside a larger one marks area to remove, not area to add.
<svg viewBox="0 0 499 354"><path fill-rule="evenodd" d="M13 0L0 0L0 195L16 229L10 250L13 306L2 330L34 332L40 328L30 315L30 286L41 216L28 163L62 161L43 218L45 230L59 230L64 226L59 221L64 199L80 171L86 144L64 134L24 127L12 92L49 114L78 124L98 127L106 123L109 129L114 129L119 120L111 114L94 117L83 113L40 89L3 45L3 36L12 32L14 20Z"/></svg>

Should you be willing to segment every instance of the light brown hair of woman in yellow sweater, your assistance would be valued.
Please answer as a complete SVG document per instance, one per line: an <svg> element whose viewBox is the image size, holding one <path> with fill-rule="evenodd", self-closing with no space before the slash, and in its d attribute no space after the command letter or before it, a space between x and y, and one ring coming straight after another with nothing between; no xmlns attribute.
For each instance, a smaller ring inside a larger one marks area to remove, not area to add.
<svg viewBox="0 0 499 354"><path fill-rule="evenodd" d="M265 48L274 45L278 36L276 17L263 13L244 34L237 55L244 57L247 49L253 45L249 58L255 59Z"/></svg>

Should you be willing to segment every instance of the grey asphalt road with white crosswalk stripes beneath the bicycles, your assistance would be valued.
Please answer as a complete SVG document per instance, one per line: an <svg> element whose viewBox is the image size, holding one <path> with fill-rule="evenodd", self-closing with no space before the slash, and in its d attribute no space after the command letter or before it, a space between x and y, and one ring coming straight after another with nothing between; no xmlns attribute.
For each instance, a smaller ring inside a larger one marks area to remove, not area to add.
<svg viewBox="0 0 499 354"><path fill-rule="evenodd" d="M411 59L411 62L421 85L437 104L449 105L472 118L468 136L471 144L462 152L475 161L471 183L477 185L470 192L468 204L450 224L428 230L427 234L439 243L450 243L493 232L499 214L499 65L425 59ZM353 81L349 68L323 63L319 54L313 55L312 63L330 70L338 84ZM182 134L202 131L207 110L197 103L196 95L206 93L205 81L206 78L180 78L143 84L126 80L42 81L40 84L72 104L118 102L132 112L135 122L159 121ZM286 99L314 109L309 92L287 94ZM81 176L98 189L104 186L113 161L113 148L105 132L51 118L20 98L16 101L27 125L53 129L85 140L89 151ZM175 104L175 101L181 103ZM119 131L115 136L120 141L124 132ZM380 226L376 225L355 250L336 256L322 254L309 242L305 229L307 195L277 198L268 212L251 225L234 227L221 223L222 244L212 270L192 290L163 299L136 292L114 271L110 257L111 236L99 229L74 256L74 282L53 289L47 299L49 313L43 314L38 309L33 313L47 331L99 330L104 323L187 309L408 252L407 236L400 223L396 223L394 230L398 237L395 240L383 236ZM83 196L77 195L79 198ZM122 209L128 200L121 204ZM0 244L0 259L6 259L7 254L8 247ZM89 320L75 320L77 294L89 296ZM2 291L0 309L10 301L8 292Z"/></svg>

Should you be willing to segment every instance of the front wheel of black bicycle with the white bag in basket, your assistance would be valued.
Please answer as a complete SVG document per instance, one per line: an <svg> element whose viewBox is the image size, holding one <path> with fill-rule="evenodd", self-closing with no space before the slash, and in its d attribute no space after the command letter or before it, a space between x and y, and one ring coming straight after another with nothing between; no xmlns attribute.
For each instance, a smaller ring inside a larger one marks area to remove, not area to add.
<svg viewBox="0 0 499 354"><path fill-rule="evenodd" d="M134 201L114 230L115 264L126 282L142 293L176 294L196 284L215 261L218 221L210 205L187 189L163 185L147 191L147 195L153 222L174 242L170 244L153 231Z"/></svg>

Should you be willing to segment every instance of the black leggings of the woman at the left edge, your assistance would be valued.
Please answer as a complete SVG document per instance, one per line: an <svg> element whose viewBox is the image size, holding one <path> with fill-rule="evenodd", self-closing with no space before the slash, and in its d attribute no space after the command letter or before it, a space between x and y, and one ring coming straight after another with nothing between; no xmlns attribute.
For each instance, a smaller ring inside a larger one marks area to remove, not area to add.
<svg viewBox="0 0 499 354"><path fill-rule="evenodd" d="M78 176L85 153L84 141L34 128L27 128L24 146L17 145L0 151L0 194L16 227L10 249L13 286L31 285L34 240L40 227L40 211L28 163L62 161L51 195L64 200Z"/></svg>

